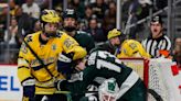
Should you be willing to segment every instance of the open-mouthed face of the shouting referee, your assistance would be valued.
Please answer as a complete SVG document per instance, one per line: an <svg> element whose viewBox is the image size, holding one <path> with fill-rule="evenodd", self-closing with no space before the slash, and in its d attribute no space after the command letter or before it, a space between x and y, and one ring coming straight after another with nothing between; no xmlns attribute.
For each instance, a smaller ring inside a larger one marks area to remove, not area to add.
<svg viewBox="0 0 181 101"><path fill-rule="evenodd" d="M162 33L162 25L158 22L151 23L150 29L153 38L159 37Z"/></svg>

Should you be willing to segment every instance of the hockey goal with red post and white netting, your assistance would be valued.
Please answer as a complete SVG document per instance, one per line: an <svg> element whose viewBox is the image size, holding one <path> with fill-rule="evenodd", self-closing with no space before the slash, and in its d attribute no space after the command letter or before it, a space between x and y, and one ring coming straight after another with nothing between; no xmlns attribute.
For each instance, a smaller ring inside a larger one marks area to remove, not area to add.
<svg viewBox="0 0 181 101"><path fill-rule="evenodd" d="M148 93L148 101L181 101L181 94L171 71L172 61L170 59L120 58L120 60L137 71L150 89L151 94Z"/></svg>

